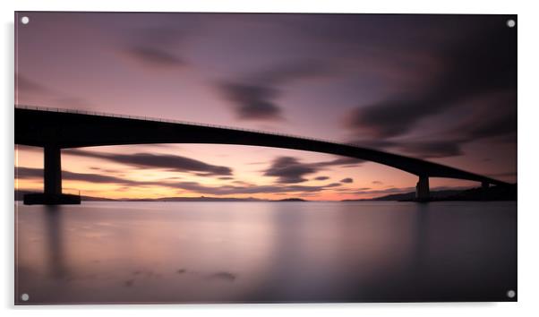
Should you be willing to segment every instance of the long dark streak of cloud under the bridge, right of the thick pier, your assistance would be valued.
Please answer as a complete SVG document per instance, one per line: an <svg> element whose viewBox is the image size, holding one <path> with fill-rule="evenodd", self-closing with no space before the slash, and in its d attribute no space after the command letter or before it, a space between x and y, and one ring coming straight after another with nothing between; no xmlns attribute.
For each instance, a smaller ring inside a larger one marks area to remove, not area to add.
<svg viewBox="0 0 539 317"><path fill-rule="evenodd" d="M131 165L141 168L165 168L169 171L195 173L199 176L231 176L230 167L215 166L197 159L189 159L171 154L116 154L103 153L90 150L64 150L65 154L83 156L87 158L107 159L112 162Z"/></svg>

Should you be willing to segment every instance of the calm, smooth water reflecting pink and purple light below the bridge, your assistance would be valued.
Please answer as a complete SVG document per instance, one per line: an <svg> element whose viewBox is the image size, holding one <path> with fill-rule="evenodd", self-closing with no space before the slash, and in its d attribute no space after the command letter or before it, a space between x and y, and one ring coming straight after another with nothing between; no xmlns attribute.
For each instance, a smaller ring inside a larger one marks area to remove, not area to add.
<svg viewBox="0 0 539 317"><path fill-rule="evenodd" d="M516 202L15 210L19 304L504 301L517 290Z"/></svg>

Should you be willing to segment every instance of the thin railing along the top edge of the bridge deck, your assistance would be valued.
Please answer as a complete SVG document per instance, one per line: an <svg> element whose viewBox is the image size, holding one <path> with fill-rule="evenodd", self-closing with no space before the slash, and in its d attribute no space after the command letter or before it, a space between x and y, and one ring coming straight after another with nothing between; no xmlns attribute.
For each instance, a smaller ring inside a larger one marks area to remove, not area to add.
<svg viewBox="0 0 539 317"><path fill-rule="evenodd" d="M68 109L68 108L62 108L62 107L39 107L39 106L29 106L29 105L17 105L17 106L15 106L15 108L28 109L28 110L39 110L39 111L49 111L49 112L60 112L60 113L66 113L66 114L80 114L80 115L90 115L90 116L108 116L108 117L134 119L134 120L164 122L164 123L170 123L170 124L190 124L190 125L196 125L196 126L204 126L204 127L219 128L219 129L228 129L228 130L242 131L242 132L248 132L248 133L262 133L262 134L286 136L286 137L291 137L291 138L296 138L296 139L303 139L303 140L310 140L310 141L336 143L336 144L347 145L347 146L352 146L352 147L358 147L359 146L358 144L355 144L355 143L324 140L324 139L320 139L320 138L312 138L312 137L289 134L289 133L278 133L278 132L268 132L268 131L256 130L256 129L245 129L245 128L241 128L241 127L227 126L227 125L221 125L221 124L203 124L203 123L196 123L196 122L190 122L190 121L184 121L184 120L164 119L164 118L158 118L158 117L152 117L152 116L132 116L132 115L122 115L122 114L107 113L107 112L100 112L100 111Z"/></svg>

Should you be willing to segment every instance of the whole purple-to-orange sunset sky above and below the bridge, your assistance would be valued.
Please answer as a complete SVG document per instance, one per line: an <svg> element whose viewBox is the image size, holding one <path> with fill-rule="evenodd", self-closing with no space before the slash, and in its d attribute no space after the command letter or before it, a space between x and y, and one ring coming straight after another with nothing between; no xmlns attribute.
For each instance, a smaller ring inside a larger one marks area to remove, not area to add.
<svg viewBox="0 0 539 317"><path fill-rule="evenodd" d="M504 15L17 13L15 103L353 142L517 182ZM42 149L15 186L42 191ZM415 190L392 167L223 144L65 149L64 193L333 201ZM432 178L431 189L474 182Z"/></svg>

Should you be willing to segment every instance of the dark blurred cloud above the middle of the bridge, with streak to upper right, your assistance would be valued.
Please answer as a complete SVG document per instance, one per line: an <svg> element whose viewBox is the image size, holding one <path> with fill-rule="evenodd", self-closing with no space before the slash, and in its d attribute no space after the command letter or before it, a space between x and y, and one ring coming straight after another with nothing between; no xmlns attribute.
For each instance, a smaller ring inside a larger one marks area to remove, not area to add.
<svg viewBox="0 0 539 317"><path fill-rule="evenodd" d="M240 120L283 120L278 87L293 81L317 78L330 73L326 64L314 61L295 62L271 67L245 78L217 83L218 91L231 102Z"/></svg>

